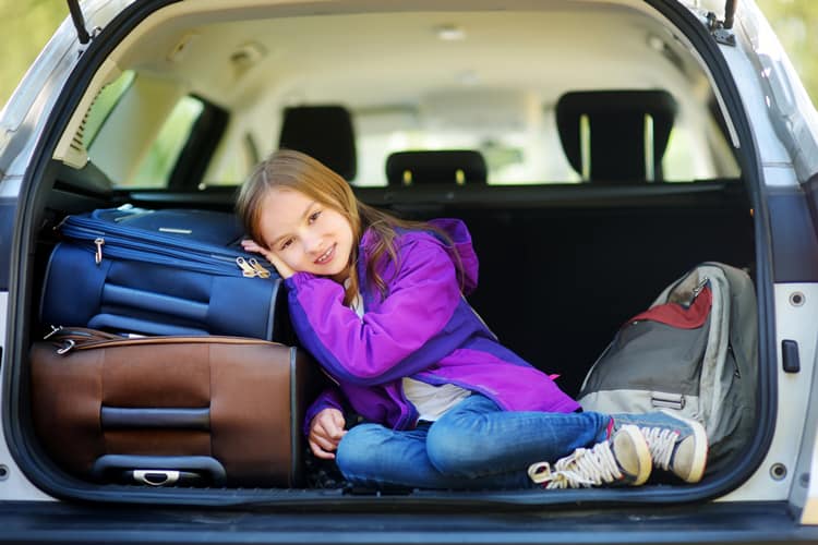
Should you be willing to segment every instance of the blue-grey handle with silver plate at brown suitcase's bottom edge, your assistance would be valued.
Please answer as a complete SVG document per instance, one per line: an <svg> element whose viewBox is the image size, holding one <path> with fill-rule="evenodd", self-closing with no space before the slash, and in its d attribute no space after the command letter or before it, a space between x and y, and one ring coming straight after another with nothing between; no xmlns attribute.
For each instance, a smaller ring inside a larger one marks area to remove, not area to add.
<svg viewBox="0 0 818 545"><path fill-rule="evenodd" d="M136 456L105 455L94 462L91 475L97 481L110 479L110 474L128 474L140 484L170 486L185 484L202 477L214 486L227 482L225 467L209 456Z"/></svg>

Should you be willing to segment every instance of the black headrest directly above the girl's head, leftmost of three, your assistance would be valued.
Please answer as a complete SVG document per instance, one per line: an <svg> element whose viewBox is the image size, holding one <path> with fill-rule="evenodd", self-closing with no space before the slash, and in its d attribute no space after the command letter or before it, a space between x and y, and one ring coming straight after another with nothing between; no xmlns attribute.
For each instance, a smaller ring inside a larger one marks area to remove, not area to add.
<svg viewBox="0 0 818 545"><path fill-rule="evenodd" d="M278 147L308 154L347 181L358 171L352 118L342 106L285 108Z"/></svg>

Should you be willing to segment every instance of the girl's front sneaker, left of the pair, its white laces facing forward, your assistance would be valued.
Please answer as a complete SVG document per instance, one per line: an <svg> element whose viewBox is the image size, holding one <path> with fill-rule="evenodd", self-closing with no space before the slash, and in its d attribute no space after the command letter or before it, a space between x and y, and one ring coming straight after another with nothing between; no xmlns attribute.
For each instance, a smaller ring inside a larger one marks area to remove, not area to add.
<svg viewBox="0 0 818 545"><path fill-rule="evenodd" d="M648 480L650 468L650 451L639 428L623 425L608 440L561 458L553 469L549 462L532 463L528 476L545 488L637 486Z"/></svg>

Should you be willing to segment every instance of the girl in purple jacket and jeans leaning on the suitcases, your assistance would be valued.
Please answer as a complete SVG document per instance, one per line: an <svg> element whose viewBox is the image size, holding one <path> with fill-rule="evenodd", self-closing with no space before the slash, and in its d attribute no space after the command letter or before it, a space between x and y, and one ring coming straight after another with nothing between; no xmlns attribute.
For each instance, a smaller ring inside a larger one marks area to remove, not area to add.
<svg viewBox="0 0 818 545"><path fill-rule="evenodd" d="M701 479L700 424L582 412L497 341L464 298L478 261L462 222L398 220L292 150L256 168L237 209L253 239L245 250L285 279L299 340L336 383L304 432L350 483L639 485L653 465ZM346 429L349 409L365 422Z"/></svg>

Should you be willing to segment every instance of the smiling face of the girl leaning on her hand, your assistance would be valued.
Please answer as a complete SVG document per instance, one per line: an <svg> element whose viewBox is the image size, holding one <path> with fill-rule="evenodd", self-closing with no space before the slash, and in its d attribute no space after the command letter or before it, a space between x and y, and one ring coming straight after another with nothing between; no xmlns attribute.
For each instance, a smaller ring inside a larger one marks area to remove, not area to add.
<svg viewBox="0 0 818 545"><path fill-rule="evenodd" d="M275 187L262 199L261 242L292 270L346 280L352 253L347 218L303 193Z"/></svg>

